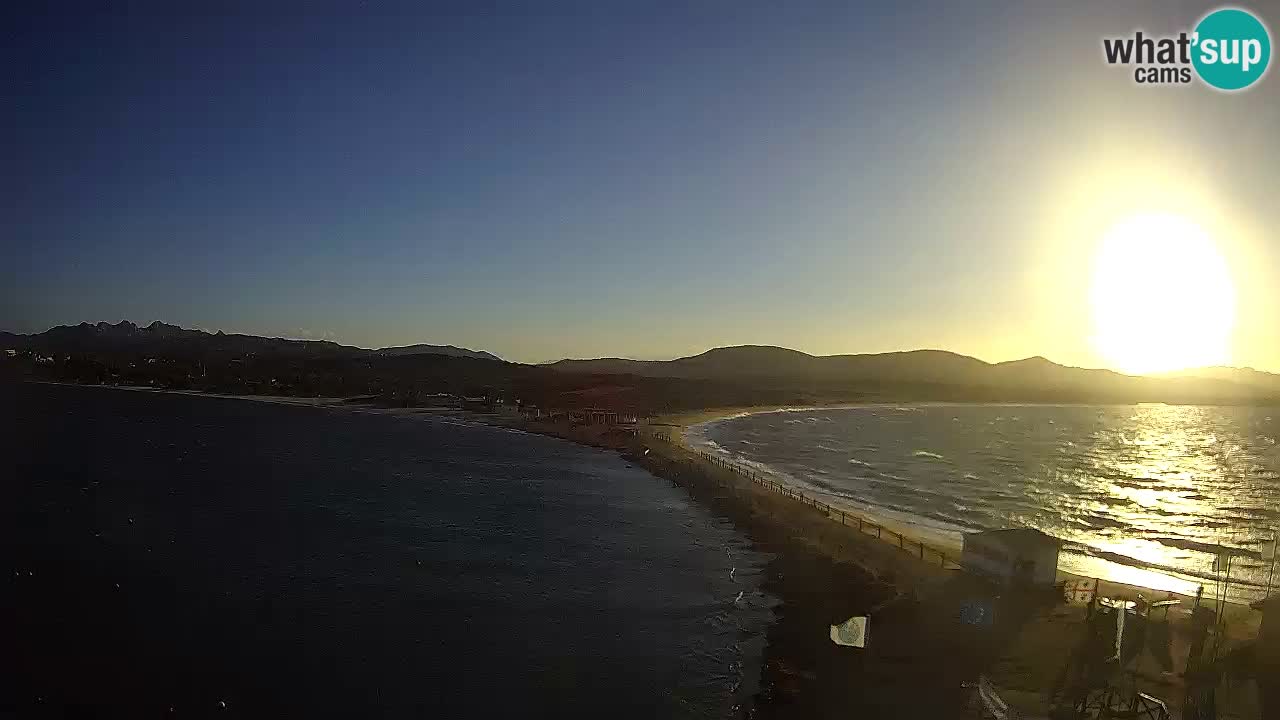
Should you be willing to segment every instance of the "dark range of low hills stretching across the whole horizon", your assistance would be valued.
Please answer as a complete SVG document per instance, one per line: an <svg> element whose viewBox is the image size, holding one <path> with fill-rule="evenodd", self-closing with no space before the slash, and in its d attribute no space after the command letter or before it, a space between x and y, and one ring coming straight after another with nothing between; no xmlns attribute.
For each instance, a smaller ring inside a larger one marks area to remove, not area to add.
<svg viewBox="0 0 1280 720"><path fill-rule="evenodd" d="M1280 405L1280 375L1261 370L1202 368L1134 377L1070 368L1044 357L986 363L942 350L817 356L749 345L675 360L605 357L524 365L451 345L369 350L329 341L210 333L161 322L138 327L128 320L59 325L36 334L0 333L4 348L101 365L87 375L76 370L81 373L77 377L143 377L138 360L155 357L168 361L170 375L186 373L164 378L166 383L198 384L197 373L205 378L224 370L236 382L251 383L257 382L252 373L246 374L251 361L257 368L253 372L266 380L279 382L291 373L296 387L323 377L328 392L518 388L525 397L563 405L709 407L911 400ZM179 373L174 369L178 365L188 369Z"/></svg>

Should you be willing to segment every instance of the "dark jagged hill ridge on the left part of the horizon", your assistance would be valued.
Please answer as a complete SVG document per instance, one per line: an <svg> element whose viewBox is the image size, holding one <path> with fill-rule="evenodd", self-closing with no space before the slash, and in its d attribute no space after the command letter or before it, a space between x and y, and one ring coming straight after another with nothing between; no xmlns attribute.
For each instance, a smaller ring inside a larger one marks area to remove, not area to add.
<svg viewBox="0 0 1280 720"><path fill-rule="evenodd" d="M35 334L0 333L0 345L42 352L140 352L182 357L200 355L215 357L242 355L351 357L376 354L381 356L445 355L451 357L502 360L490 352L467 350L452 345L410 345L404 347L366 350L324 340L289 340L224 333L221 331L210 333L170 325L160 320L146 327L140 327L129 320L120 320L115 324L81 323L78 325L58 325Z"/></svg>

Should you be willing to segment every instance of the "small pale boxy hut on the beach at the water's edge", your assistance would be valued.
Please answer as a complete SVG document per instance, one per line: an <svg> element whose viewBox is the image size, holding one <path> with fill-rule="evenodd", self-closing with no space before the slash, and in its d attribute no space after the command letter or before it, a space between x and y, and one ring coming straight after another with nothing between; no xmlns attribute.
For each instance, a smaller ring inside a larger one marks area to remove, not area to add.
<svg viewBox="0 0 1280 720"><path fill-rule="evenodd" d="M1051 585L1057 582L1061 547L1062 541L1034 528L968 533L960 564L1006 584Z"/></svg>

